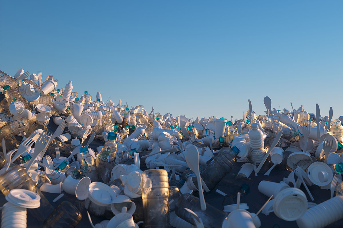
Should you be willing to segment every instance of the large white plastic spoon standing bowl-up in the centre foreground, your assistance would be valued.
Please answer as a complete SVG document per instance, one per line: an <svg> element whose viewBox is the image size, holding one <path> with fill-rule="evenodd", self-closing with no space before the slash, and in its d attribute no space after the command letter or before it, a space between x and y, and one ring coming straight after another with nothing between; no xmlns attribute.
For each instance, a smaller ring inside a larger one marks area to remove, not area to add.
<svg viewBox="0 0 343 228"><path fill-rule="evenodd" d="M206 202L204 199L204 193L202 191L202 184L200 178L200 170L199 170L199 152L196 146L190 145L187 148L187 155L186 155L186 162L190 169L197 175L198 181L198 189L199 189L199 196L200 196L200 206L201 210L206 210Z"/></svg>

